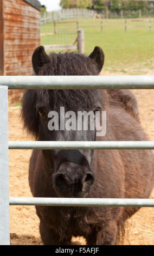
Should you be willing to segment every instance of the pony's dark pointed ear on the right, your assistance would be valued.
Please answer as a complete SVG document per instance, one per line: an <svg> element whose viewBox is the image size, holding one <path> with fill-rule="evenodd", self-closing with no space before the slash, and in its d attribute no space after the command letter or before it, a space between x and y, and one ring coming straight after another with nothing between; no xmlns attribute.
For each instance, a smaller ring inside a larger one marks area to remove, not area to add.
<svg viewBox="0 0 154 256"><path fill-rule="evenodd" d="M102 49L95 46L93 52L89 55L89 58L91 58L97 64L98 72L100 72L102 66L104 65L104 52Z"/></svg>

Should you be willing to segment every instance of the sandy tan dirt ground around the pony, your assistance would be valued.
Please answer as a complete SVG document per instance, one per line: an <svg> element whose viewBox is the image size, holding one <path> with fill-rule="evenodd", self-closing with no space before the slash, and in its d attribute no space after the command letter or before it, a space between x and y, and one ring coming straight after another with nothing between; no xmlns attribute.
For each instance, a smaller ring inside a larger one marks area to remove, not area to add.
<svg viewBox="0 0 154 256"><path fill-rule="evenodd" d="M133 90L133 93L138 99L142 126L154 141L154 90ZM26 140L33 141L33 138L23 132L20 107L10 106L9 141ZM28 184L30 155L31 150L9 150L10 197L32 196ZM154 198L154 191L151 198ZM35 206L10 206L10 242L11 245L42 245ZM86 242L82 237L73 237L72 244L86 245ZM154 245L153 208L142 208L127 221L124 245Z"/></svg>

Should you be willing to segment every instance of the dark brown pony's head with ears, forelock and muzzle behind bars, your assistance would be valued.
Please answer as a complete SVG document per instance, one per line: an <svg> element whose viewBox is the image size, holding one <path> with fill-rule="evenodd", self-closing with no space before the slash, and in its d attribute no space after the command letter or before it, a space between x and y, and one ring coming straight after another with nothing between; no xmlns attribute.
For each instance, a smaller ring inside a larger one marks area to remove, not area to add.
<svg viewBox="0 0 154 256"><path fill-rule="evenodd" d="M104 64L104 53L95 47L88 57L78 53L48 55L40 46L32 63L36 76L95 76ZM27 90L22 99L24 126L39 141L95 141L95 126L93 130L89 127L95 112L104 110L106 102L104 90ZM83 120L81 114L77 120L79 112L92 112L92 119L87 114ZM53 166L50 175L58 195L87 196L94 182L92 150L43 150L43 154Z"/></svg>

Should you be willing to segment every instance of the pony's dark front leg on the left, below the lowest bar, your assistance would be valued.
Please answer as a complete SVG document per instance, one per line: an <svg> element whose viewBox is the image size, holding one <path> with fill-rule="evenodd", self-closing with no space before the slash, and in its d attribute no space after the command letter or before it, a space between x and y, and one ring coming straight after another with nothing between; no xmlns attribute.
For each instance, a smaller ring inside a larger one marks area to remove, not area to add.
<svg viewBox="0 0 154 256"><path fill-rule="evenodd" d="M70 245L71 235L60 240L59 234L54 229L49 229L42 221L40 222L40 234L44 245Z"/></svg>

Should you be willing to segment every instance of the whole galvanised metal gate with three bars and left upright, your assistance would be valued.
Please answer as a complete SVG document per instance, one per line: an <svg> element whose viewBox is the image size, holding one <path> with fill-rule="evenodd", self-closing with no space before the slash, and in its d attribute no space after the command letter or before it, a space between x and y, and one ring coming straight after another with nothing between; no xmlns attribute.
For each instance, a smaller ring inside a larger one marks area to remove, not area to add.
<svg viewBox="0 0 154 256"><path fill-rule="evenodd" d="M8 89L154 89L154 76L0 76L0 244L9 245L10 205L152 207L154 199L9 198L9 149L154 149L153 141L8 142Z"/></svg>

